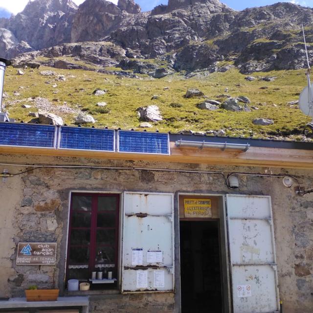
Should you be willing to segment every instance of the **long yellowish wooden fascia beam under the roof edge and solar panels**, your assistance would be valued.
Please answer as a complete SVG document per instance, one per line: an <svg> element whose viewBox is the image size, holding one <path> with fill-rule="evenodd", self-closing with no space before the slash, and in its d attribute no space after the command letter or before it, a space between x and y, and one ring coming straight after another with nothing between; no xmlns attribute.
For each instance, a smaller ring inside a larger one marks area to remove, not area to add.
<svg viewBox="0 0 313 313"><path fill-rule="evenodd" d="M0 147L0 154L34 156L70 156L116 160L197 163L210 165L238 165L313 169L313 150L250 147L248 151L211 148L177 148L171 145L171 155L58 150L42 148Z"/></svg>

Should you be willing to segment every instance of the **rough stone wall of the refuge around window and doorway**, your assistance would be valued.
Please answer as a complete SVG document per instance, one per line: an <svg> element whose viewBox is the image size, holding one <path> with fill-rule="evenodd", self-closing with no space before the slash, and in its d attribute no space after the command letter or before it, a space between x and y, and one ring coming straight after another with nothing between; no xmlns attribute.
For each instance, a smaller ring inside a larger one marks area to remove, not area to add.
<svg viewBox="0 0 313 313"><path fill-rule="evenodd" d="M19 164L88 165L167 168L191 171L253 172L296 175L310 189L313 171L238 168L196 164L92 160L37 156L0 156ZM0 166L10 173L24 167ZM27 168L29 169L29 168ZM221 175L91 168L40 168L0 181L0 296L22 296L28 285L56 287L63 292L67 216L70 190L194 192L204 194L269 195L272 200L280 297L288 313L311 313L313 308L313 194L299 197L281 179L240 176L240 188L227 189ZM57 266L16 266L18 242L57 242ZM179 275L177 272L176 275ZM91 312L178 312L173 293L102 294L91 296Z"/></svg>

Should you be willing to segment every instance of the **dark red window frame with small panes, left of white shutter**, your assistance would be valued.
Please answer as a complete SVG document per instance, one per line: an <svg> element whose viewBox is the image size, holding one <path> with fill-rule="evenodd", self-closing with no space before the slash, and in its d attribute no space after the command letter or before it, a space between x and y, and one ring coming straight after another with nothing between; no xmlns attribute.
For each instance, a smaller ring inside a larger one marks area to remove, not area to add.
<svg viewBox="0 0 313 313"><path fill-rule="evenodd" d="M73 199L75 196L81 196L81 197L91 197L91 211L84 211L84 210L73 210ZM115 210L101 210L98 211L98 199L100 197L111 197L111 198L116 198L116 207ZM69 227L68 227L68 237L67 237L67 267L66 267L66 281L68 280L68 275L69 275L69 266L70 265L75 265L75 264L70 264L70 248L71 247L86 247L89 246L89 261L86 262L88 263L88 272L89 272L89 277L86 277L86 279L91 278L91 272L92 271L103 271L104 268L99 269L95 268L96 265L96 250L97 250L97 241L96 241L96 235L97 235L97 230L111 230L115 229L115 241L114 241L114 269L109 268L110 270L113 271L113 278L118 278L118 243L119 243L119 206L120 206L120 195L119 194L102 194L102 193L72 193L71 194L71 199L70 199L70 208L69 208ZM91 213L91 220L90 220L90 227L73 227L72 226L72 220L73 220L73 213ZM113 213L115 212L115 223L112 227L98 227L97 226L97 218L98 214L108 214L108 213ZM90 238L89 238L89 245L86 244L81 244L81 245L76 245L73 244L71 245L71 233L72 230L89 230L90 229ZM100 246L106 247L106 246L112 246L112 245L106 245L102 244ZM106 277L104 277L106 278Z"/></svg>

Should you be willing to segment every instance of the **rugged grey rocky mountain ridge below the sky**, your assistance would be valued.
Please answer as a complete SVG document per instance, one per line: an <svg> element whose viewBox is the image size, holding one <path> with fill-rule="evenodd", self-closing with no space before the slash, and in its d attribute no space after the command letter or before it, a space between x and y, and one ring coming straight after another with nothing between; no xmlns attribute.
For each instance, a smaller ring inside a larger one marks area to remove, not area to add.
<svg viewBox="0 0 313 313"><path fill-rule="evenodd" d="M78 7L71 0L35 0L0 21L0 47L13 58L67 43L111 42L125 57L163 58L176 71L215 71L226 60L251 73L301 68L300 25L312 22L313 9L289 2L235 11L219 0L169 0L141 12L134 0L86 0ZM308 50L313 61L311 45Z"/></svg>

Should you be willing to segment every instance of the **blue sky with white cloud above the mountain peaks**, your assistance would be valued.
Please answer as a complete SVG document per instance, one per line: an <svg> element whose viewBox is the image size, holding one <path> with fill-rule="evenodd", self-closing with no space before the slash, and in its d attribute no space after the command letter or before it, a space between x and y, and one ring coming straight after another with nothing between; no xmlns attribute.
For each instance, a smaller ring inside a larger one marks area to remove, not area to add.
<svg viewBox="0 0 313 313"><path fill-rule="evenodd" d="M84 2L84 0L73 1L78 5ZM109 1L116 4L118 0ZM27 2L28 0L0 0L0 8L5 8L14 14L17 14L18 12L21 12L23 10ZM135 2L141 6L143 11L152 10L158 4L167 4L167 0L135 0ZM278 0L222 0L222 2L235 10L243 10L247 7L273 4L275 2L278 2ZM313 0L285 0L285 2L293 2L296 4L313 7Z"/></svg>

